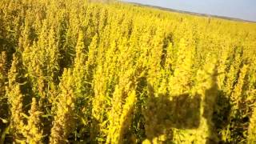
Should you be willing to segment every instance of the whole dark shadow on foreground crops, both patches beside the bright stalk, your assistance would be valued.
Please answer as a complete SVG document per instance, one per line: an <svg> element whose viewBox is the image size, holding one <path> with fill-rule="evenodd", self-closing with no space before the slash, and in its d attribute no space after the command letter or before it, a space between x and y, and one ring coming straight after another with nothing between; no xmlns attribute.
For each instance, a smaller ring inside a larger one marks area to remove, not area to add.
<svg viewBox="0 0 256 144"><path fill-rule="evenodd" d="M145 118L146 138L153 140L162 134L166 134L168 141L172 141L172 128L180 130L197 129L201 118L206 118L209 137L206 143L217 143L217 134L227 126L230 114L230 101L218 90L216 81L205 90L206 98L202 101L200 94L169 94L154 93L153 86L148 84L149 95L146 108L143 110ZM172 98L172 99L170 99ZM200 106L203 113L200 114Z"/></svg>

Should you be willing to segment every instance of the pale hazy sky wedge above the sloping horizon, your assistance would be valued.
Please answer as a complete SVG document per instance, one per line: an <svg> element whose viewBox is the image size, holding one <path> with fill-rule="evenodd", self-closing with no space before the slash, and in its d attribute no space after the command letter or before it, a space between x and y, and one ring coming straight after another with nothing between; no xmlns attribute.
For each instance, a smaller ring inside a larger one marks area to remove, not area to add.
<svg viewBox="0 0 256 144"><path fill-rule="evenodd" d="M256 0L123 0L256 22Z"/></svg>

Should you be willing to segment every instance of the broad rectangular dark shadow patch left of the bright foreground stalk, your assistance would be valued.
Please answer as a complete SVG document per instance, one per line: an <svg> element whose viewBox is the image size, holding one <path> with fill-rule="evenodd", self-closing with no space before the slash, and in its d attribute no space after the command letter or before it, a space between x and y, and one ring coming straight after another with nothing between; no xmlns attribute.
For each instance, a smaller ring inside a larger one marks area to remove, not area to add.
<svg viewBox="0 0 256 144"><path fill-rule="evenodd" d="M153 87L148 84L149 98L143 110L146 137L150 140L166 134L171 128L196 129L200 124L200 103L198 94L154 95ZM172 134L170 134L172 137ZM170 138L171 140L172 138Z"/></svg>

